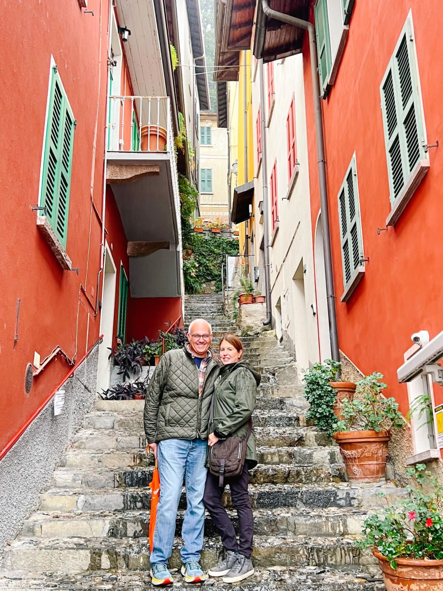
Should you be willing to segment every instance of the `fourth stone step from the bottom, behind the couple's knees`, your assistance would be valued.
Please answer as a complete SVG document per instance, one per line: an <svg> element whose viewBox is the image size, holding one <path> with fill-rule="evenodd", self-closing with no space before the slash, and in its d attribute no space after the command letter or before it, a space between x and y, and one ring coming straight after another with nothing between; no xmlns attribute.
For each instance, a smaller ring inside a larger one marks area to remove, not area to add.
<svg viewBox="0 0 443 591"><path fill-rule="evenodd" d="M357 488L344 482L318 485L249 485L253 509L282 507L320 509L327 507L354 507L363 510L385 506L377 492L386 492L389 498L405 495L405 489L385 485L379 488ZM232 507L229 493L224 493L224 505ZM151 506L151 489L51 489L40 495L40 511L126 511L146 509ZM184 509L185 496L181 496L180 508Z"/></svg>

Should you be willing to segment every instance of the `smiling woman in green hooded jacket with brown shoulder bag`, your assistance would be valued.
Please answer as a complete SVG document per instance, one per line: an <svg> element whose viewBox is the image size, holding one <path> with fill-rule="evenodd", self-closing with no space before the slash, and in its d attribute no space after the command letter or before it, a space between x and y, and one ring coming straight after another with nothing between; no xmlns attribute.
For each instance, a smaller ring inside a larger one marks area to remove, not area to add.
<svg viewBox="0 0 443 591"><path fill-rule="evenodd" d="M250 417L255 408L257 386L260 375L245 361L242 361L243 345L235 335L224 335L220 341L222 367L214 391L214 420L210 425L208 445L214 446L219 439L237 436L246 437ZM238 476L224 478L219 486L219 476L208 472L204 490L204 505L209 511L217 530L222 536L226 550L223 562L212 567L208 574L223 577L225 583L236 583L254 573L250 556L252 554L253 514L247 493L248 470L257 464L255 434L247 440L246 462ZM224 486L229 484L232 502L239 516L240 536L234 531L227 512L222 505Z"/></svg>

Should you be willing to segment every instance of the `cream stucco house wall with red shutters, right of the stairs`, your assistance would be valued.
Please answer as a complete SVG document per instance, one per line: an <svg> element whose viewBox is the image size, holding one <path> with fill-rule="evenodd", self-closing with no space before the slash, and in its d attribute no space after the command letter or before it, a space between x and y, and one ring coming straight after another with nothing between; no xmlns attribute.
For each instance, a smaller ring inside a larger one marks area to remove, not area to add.
<svg viewBox="0 0 443 591"><path fill-rule="evenodd" d="M314 260L312 254L311 211L309 199L308 147L305 122L303 63L301 56L292 56L273 63L275 103L271 118L268 113L266 66L263 67L266 98L266 130L268 186L276 160L278 189L278 231L273 236L270 252L272 316L276 332L294 353L300 369L318 361L317 319L315 310ZM296 141L299 173L288 196L288 168L286 147L286 117L295 97ZM257 171L256 119L260 103L259 68L252 69L252 102L255 154L255 258L259 261L263 224L260 223L258 204L262 200L262 166ZM271 190L268 189L269 208ZM288 197L288 199L286 199ZM271 215L269 236L272 237ZM261 256L262 258L262 256ZM256 262L257 264L257 262ZM260 267L260 265L259 265ZM298 271L298 272L297 272ZM297 275L296 275L297 272ZM264 291L263 269L260 268L260 291ZM303 290L304 288L304 290ZM304 291L304 293L303 293ZM279 303L279 307L277 306Z"/></svg>

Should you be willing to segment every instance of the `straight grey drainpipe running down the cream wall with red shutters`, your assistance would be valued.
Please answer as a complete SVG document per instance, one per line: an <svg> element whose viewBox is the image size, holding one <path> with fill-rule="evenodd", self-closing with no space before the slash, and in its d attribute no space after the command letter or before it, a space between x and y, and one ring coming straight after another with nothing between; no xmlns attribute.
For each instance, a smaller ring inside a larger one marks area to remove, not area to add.
<svg viewBox="0 0 443 591"><path fill-rule="evenodd" d="M266 294L266 320L264 326L272 322L271 311L271 272L269 271L269 207L268 207L268 161L266 160L266 125L265 125L265 83L263 82L263 59L259 60L260 78L260 113L262 120L262 179L263 179L263 257L265 263L265 294Z"/></svg>

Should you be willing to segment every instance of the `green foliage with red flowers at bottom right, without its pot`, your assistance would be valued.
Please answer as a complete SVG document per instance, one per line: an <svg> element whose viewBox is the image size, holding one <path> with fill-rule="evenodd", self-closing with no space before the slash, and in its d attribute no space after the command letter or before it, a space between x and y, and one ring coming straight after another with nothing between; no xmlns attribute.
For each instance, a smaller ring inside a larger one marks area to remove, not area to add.
<svg viewBox="0 0 443 591"><path fill-rule="evenodd" d="M406 475L416 482L406 487L408 496L396 502L386 498L386 508L364 521L364 537L356 542L361 549L379 550L393 569L398 558L443 560L443 517L439 513L443 486L426 471L425 464L408 468ZM425 488L432 492L426 493Z"/></svg>

